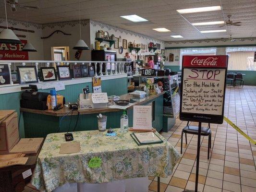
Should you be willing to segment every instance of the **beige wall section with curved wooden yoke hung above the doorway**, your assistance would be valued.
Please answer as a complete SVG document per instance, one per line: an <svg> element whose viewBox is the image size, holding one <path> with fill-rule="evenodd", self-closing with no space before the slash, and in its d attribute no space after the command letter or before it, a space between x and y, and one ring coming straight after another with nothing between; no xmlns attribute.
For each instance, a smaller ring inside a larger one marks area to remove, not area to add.
<svg viewBox="0 0 256 192"><path fill-rule="evenodd" d="M61 30L71 36L63 35L61 32L55 33L47 39L43 39L44 60L51 60L51 47L68 46L70 50L70 60L76 60L73 49L76 42L80 39L79 21L59 22L43 24L43 36L49 36L52 32ZM90 24L89 20L81 20L82 39L90 47ZM79 60L90 60L91 51L83 50Z"/></svg>

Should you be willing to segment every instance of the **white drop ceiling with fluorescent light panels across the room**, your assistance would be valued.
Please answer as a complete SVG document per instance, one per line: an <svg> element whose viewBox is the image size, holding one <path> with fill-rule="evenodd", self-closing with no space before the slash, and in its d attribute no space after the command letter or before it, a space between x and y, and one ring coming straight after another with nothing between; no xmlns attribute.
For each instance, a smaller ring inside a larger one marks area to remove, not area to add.
<svg viewBox="0 0 256 192"><path fill-rule="evenodd" d="M78 20L78 0L19 0L22 5L38 6L28 12L29 22L38 24ZM187 13L180 15L177 9L222 6L221 11ZM207 38L256 37L256 0L80 0L81 19L134 31L163 41L179 41ZM12 12L7 7L8 18L25 21L25 10ZM122 15L137 14L147 19L148 24L131 24ZM233 22L241 26L203 25L190 23L226 21L231 14ZM0 17L4 17L4 1L0 2ZM165 27L171 32L160 33L153 28ZM226 29L227 32L202 34L199 31ZM183 38L173 38L181 35Z"/></svg>

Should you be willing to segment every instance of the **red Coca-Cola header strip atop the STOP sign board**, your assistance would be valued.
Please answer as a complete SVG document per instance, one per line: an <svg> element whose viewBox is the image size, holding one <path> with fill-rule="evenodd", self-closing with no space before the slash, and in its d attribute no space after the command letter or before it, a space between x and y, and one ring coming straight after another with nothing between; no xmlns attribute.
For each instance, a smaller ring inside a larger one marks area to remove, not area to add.
<svg viewBox="0 0 256 192"><path fill-rule="evenodd" d="M227 67L228 57L226 55L211 56L183 56L183 67L195 68L225 68Z"/></svg>

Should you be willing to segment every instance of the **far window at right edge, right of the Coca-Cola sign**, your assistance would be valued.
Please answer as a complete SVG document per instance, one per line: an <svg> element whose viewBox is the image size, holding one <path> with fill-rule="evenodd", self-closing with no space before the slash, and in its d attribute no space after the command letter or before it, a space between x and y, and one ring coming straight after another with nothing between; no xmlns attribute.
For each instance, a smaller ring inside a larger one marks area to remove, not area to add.
<svg viewBox="0 0 256 192"><path fill-rule="evenodd" d="M229 56L228 70L256 71L255 52L256 47L227 48L227 55Z"/></svg>

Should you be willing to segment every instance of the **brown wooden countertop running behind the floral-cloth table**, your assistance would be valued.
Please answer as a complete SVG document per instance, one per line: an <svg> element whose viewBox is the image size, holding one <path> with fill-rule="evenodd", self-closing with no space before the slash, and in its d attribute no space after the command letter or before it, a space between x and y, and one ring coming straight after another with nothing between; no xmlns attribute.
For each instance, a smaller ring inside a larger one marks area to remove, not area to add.
<svg viewBox="0 0 256 192"><path fill-rule="evenodd" d="M158 95L152 95L152 96L147 96L146 98L140 99L139 101L134 102L134 105L144 105L145 103L150 102L151 100L156 99L159 96L162 96L165 92L161 92ZM130 100L132 98L136 98L130 94L124 94L122 96L120 96L120 99L122 100ZM128 109L132 109L133 106L130 106ZM42 115L51 115L51 116L56 116L56 117L60 117L60 116L64 116L68 111L70 111L69 108L64 107L61 108L58 111L53 111L52 109L49 110L37 110L37 109L30 109L30 108L20 108L21 111L23 112L29 112L29 113L36 113L36 114L42 114ZM116 111L122 111L122 109L118 109L118 108L88 108L88 109L79 109L78 110L80 115L86 115L86 114L94 114L94 113L106 113L106 112L116 112ZM77 111L73 111L73 115L77 115ZM71 113L69 113L68 115L71 115Z"/></svg>

